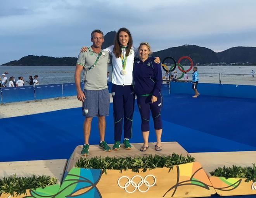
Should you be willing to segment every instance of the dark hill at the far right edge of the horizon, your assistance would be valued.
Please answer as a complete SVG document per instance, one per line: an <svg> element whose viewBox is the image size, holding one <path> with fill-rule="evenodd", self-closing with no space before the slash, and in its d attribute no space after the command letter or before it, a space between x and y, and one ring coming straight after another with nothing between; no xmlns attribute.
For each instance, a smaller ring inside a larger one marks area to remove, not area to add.
<svg viewBox="0 0 256 198"><path fill-rule="evenodd" d="M216 53L219 62L237 63L249 62L256 63L256 47L234 47Z"/></svg>

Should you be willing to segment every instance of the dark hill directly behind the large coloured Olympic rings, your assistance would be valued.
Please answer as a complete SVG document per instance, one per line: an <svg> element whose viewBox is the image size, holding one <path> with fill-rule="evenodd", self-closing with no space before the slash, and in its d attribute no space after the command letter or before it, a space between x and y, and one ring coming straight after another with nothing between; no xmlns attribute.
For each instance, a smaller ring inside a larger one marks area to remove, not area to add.
<svg viewBox="0 0 256 198"><path fill-rule="evenodd" d="M189 56L192 58L193 63L218 63L218 57L213 50L199 47L197 45L183 45L168 48L153 53L153 56L158 56L162 61L167 56L175 58L176 61L178 61L178 59L182 56ZM184 59L182 63L189 63L189 60Z"/></svg>

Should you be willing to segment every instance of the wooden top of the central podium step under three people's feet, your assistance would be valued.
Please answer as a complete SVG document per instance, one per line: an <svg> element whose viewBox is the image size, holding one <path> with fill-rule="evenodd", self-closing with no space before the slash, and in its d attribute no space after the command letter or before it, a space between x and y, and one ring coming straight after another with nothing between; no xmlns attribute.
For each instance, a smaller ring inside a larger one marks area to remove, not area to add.
<svg viewBox="0 0 256 198"><path fill-rule="evenodd" d="M149 143L149 148L145 152L140 151L140 147L143 145L143 143L132 143L132 149L126 150L123 145L121 145L120 150L112 150L111 152L106 152L102 150L99 145L90 145L89 149L89 155L87 157L138 157L138 156L145 156L145 155L171 155L173 153L176 154L182 154L183 156L189 155L189 153L178 144L178 142L162 142L162 148L161 151L155 150L156 143ZM112 148L112 144L109 144L109 146ZM69 161L67 162L67 169L66 171L70 171L71 168L75 166L75 163L83 157L80 155L80 152L82 150L82 145L77 146L71 155Z"/></svg>

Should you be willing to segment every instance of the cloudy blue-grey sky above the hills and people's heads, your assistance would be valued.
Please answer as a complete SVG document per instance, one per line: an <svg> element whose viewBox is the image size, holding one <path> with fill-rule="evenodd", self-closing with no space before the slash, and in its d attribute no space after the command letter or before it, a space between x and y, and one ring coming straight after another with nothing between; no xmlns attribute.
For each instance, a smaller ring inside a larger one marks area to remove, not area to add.
<svg viewBox="0 0 256 198"><path fill-rule="evenodd" d="M27 55L77 57L90 33L126 27L153 51L256 47L255 0L0 0L0 65Z"/></svg>

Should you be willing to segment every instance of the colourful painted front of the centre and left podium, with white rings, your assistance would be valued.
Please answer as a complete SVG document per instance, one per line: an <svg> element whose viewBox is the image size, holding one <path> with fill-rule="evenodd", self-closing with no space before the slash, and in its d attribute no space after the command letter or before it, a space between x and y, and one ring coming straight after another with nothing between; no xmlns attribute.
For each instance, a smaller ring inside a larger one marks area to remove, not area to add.
<svg viewBox="0 0 256 198"><path fill-rule="evenodd" d="M73 168L61 186L29 190L22 198L156 198L200 197L215 194L206 173L198 162L143 172ZM1 196L5 198L11 198Z"/></svg>

